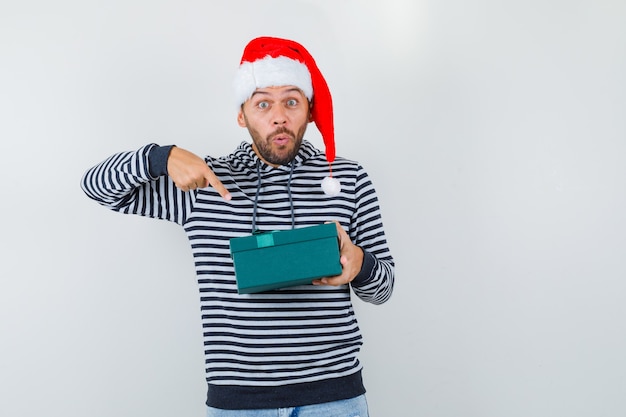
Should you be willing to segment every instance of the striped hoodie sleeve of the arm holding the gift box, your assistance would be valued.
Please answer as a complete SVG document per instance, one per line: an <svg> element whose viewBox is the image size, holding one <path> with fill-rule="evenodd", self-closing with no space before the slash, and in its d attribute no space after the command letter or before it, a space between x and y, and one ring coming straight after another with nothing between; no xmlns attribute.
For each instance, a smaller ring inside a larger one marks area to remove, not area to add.
<svg viewBox="0 0 626 417"><path fill-rule="evenodd" d="M362 300L382 304L393 292L395 264L385 237L376 190L360 166L355 201L356 211L349 235L363 249L363 266L351 283L352 289Z"/></svg>

